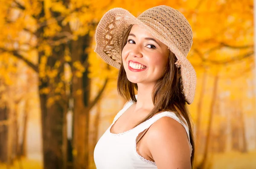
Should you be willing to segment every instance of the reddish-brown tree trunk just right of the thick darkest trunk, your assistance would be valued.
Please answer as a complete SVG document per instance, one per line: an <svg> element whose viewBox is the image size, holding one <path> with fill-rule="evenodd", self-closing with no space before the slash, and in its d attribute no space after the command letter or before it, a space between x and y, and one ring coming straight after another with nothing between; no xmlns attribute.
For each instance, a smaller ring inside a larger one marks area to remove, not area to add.
<svg viewBox="0 0 256 169"><path fill-rule="evenodd" d="M84 50L90 44L90 37L86 35L72 41L71 57L72 62L87 62L87 53ZM76 69L73 68L73 72ZM88 71L83 73L82 78L73 76L72 95L74 98L74 133L73 133L73 167L74 169L88 169L89 166L89 111L90 79Z"/></svg>

